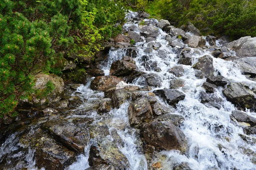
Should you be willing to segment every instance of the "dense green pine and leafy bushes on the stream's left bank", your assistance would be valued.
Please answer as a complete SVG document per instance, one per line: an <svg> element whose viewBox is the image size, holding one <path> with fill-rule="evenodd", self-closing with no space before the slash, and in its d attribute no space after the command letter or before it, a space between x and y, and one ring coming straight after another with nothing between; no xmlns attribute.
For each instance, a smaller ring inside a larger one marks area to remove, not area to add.
<svg viewBox="0 0 256 170"><path fill-rule="evenodd" d="M51 66L63 54L93 58L125 21L119 0L0 0L0 11L0 118L14 116L19 99L54 89L35 91L34 75L61 75Z"/></svg>

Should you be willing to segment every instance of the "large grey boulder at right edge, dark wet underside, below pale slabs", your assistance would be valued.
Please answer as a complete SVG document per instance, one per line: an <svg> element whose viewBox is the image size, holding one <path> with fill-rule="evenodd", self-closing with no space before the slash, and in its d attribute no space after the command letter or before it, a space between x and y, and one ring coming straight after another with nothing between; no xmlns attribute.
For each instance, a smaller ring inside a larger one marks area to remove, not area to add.
<svg viewBox="0 0 256 170"><path fill-rule="evenodd" d="M231 82L230 85L223 90L223 94L234 105L248 109L255 107L256 95L243 83Z"/></svg>

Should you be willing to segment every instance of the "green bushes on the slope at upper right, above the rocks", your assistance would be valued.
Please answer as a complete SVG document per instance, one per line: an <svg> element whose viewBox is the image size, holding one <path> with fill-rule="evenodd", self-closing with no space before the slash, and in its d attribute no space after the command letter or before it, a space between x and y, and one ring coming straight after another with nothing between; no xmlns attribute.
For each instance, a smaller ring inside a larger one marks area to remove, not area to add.
<svg viewBox="0 0 256 170"><path fill-rule="evenodd" d="M256 1L253 0L154 0L150 14L179 27L191 21L204 34L214 32L232 39L256 36Z"/></svg>

